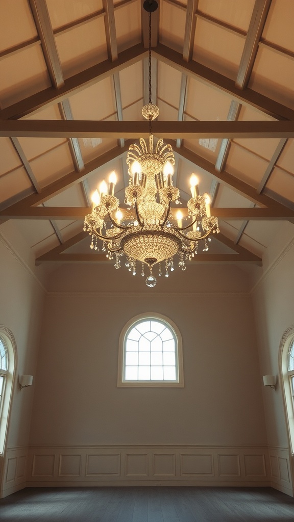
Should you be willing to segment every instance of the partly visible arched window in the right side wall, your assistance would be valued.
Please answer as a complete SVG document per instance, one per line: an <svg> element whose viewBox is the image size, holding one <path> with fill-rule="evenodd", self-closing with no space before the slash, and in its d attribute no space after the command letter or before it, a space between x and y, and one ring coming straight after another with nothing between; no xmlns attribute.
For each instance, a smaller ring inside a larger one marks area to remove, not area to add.
<svg viewBox="0 0 294 522"><path fill-rule="evenodd" d="M289 444L294 454L294 328L289 328L280 343L280 377L288 428Z"/></svg>

